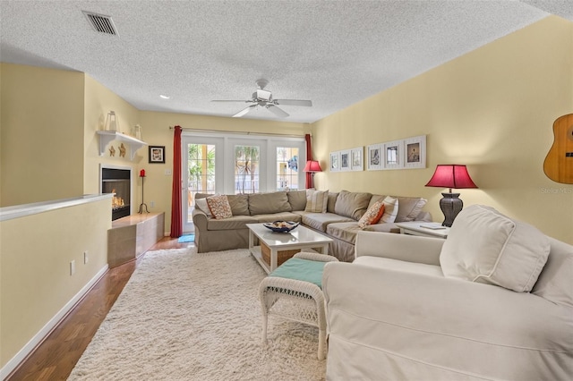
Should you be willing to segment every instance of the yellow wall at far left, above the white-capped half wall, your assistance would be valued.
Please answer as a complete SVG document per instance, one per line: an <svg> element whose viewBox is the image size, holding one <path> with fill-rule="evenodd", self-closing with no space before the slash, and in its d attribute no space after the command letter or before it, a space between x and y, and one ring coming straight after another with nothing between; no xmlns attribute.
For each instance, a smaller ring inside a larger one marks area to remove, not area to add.
<svg viewBox="0 0 573 381"><path fill-rule="evenodd" d="M83 191L83 76L0 63L0 206Z"/></svg>

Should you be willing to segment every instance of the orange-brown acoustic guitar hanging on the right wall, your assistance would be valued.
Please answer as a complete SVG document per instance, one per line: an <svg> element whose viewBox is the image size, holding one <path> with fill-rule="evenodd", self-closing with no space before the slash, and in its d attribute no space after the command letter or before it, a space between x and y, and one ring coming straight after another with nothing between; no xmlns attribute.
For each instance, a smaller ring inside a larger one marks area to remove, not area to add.
<svg viewBox="0 0 573 381"><path fill-rule="evenodd" d="M555 120L553 139L543 162L543 172L554 182L573 184L573 114Z"/></svg>

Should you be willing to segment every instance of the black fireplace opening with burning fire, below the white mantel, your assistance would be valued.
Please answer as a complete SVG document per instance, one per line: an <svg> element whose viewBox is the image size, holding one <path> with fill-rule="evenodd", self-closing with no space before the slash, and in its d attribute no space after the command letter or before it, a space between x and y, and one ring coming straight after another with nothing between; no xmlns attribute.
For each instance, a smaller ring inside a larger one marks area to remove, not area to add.
<svg viewBox="0 0 573 381"><path fill-rule="evenodd" d="M111 220L131 215L131 168L101 167L101 193L115 193Z"/></svg>

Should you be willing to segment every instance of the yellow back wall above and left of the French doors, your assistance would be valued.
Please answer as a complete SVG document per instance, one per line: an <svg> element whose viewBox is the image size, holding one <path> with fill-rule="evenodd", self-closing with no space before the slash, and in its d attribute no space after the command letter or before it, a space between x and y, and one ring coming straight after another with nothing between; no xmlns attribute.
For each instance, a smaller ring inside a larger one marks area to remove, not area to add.
<svg viewBox="0 0 573 381"><path fill-rule="evenodd" d="M253 119L226 118L207 115L173 114L141 112L140 123L142 140L152 146L166 147L165 164L149 164L147 151L139 163L139 170L145 169L145 203L150 212L165 211L166 232L171 228L171 188L173 176L166 175L166 169L173 169L173 135L169 126L180 125L184 129L213 130L232 132L281 133L288 135L304 135L310 131L307 123L269 122ZM141 148L141 151L147 148ZM141 182L138 182L136 194L138 205L141 203ZM155 207L150 207L153 200Z"/></svg>

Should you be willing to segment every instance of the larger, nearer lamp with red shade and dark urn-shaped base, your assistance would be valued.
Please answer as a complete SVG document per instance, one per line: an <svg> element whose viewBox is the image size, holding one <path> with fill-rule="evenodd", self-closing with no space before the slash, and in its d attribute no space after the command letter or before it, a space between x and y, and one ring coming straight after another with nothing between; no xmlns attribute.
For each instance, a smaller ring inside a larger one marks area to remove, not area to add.
<svg viewBox="0 0 573 381"><path fill-rule="evenodd" d="M459 193L452 193L451 189L477 188L477 185L467 173L466 165L438 165L426 187L449 188L449 193L441 194L440 209L445 217L442 226L451 227L464 207Z"/></svg>

